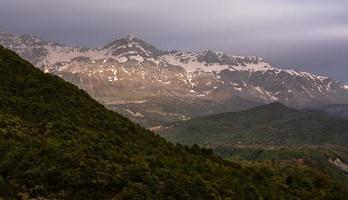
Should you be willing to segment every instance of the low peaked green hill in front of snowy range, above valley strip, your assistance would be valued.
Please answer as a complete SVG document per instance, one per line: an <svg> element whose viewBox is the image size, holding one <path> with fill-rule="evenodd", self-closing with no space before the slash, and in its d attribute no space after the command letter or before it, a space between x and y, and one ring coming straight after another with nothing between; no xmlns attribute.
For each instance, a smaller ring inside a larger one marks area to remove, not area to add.
<svg viewBox="0 0 348 200"><path fill-rule="evenodd" d="M176 122L162 136L183 144L324 145L348 143L348 121L271 103L242 112Z"/></svg>

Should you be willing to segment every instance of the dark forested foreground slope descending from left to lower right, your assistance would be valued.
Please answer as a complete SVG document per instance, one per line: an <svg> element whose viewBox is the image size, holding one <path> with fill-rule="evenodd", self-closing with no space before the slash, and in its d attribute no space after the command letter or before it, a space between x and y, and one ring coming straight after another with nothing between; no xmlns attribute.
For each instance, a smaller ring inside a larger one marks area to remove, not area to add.
<svg viewBox="0 0 348 200"><path fill-rule="evenodd" d="M301 163L174 146L0 47L2 198L345 199L347 188Z"/></svg>

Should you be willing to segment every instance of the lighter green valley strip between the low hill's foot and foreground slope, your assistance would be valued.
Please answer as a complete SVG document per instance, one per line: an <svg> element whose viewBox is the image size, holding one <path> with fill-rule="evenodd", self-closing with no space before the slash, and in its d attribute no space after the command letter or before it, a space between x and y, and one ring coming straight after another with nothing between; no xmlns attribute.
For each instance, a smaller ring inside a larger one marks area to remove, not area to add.
<svg viewBox="0 0 348 200"><path fill-rule="evenodd" d="M326 171L336 178L347 181L348 148L337 145L323 146L213 146L217 155L231 161L291 161Z"/></svg>

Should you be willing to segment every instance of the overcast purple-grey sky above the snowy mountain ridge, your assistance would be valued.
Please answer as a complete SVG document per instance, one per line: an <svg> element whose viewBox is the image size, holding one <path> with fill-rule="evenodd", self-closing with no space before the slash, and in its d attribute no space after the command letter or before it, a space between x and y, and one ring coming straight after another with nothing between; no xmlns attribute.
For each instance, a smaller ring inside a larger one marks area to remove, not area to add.
<svg viewBox="0 0 348 200"><path fill-rule="evenodd" d="M90 47L133 33L348 82L347 0L0 0L0 31Z"/></svg>

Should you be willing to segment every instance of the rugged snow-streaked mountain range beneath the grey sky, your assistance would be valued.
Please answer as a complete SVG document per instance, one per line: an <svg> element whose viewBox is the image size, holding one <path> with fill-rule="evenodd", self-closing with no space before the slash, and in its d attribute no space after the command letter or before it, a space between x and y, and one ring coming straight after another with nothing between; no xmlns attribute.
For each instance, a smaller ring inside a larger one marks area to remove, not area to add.
<svg viewBox="0 0 348 200"><path fill-rule="evenodd" d="M94 49L4 33L0 44L147 127L275 101L293 108L348 102L348 86L328 77L256 56L162 51L133 35Z"/></svg>

